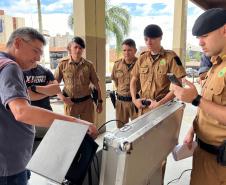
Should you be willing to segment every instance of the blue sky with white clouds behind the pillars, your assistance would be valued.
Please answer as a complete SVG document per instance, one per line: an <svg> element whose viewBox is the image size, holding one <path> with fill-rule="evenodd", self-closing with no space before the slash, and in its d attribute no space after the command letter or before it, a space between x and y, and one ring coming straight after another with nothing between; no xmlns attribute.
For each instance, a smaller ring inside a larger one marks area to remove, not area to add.
<svg viewBox="0 0 226 185"><path fill-rule="evenodd" d="M175 0L178 1L178 0ZM51 35L65 34L72 31L67 25L68 16L72 12L73 0L41 0L43 28ZM129 11L131 19L130 34L138 45L143 43L143 29L146 25L154 23L163 29L163 45L171 47L173 37L173 0L110 0L110 4L119 5ZM26 26L38 27L36 0L0 0L0 9L6 15L25 18ZM202 13L200 8L188 1L188 42L195 43L191 35L191 27L197 16Z"/></svg>

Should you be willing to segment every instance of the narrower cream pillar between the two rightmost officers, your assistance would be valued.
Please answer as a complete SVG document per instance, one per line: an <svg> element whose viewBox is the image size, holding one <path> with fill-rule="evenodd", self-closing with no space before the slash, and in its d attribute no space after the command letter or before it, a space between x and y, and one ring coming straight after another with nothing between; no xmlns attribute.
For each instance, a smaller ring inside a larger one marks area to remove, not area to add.
<svg viewBox="0 0 226 185"><path fill-rule="evenodd" d="M187 0L174 0L173 50L186 61Z"/></svg>

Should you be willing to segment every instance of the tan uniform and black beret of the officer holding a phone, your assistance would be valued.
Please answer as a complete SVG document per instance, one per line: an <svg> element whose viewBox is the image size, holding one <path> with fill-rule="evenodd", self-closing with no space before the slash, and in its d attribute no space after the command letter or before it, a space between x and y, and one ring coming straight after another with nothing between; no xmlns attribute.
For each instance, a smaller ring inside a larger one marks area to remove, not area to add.
<svg viewBox="0 0 226 185"><path fill-rule="evenodd" d="M203 36L224 24L226 10L209 9L198 17L192 33L194 36ZM202 97L215 104L226 106L226 53L216 57L212 62L213 66L207 73L202 87ZM200 100L201 96L197 97ZM196 101L193 100L193 105L197 105ZM193 128L197 135L198 147L193 155L191 185L226 185L226 166L220 164L217 157L220 153L219 147L226 140L226 126L199 109Z"/></svg>

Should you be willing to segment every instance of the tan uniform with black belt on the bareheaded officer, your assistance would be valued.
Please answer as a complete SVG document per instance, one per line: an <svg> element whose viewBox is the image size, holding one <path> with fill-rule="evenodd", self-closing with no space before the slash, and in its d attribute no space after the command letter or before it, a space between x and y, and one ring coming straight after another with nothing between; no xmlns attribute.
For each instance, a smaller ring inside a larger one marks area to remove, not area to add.
<svg viewBox="0 0 226 185"><path fill-rule="evenodd" d="M115 82L117 88L117 100L116 100L116 119L117 127L121 128L123 123L128 123L129 118L131 120L137 117L137 109L132 102L130 94L130 80L131 70L136 63L137 58L133 60L131 64L127 64L125 60L119 59L115 62L112 70L111 78ZM139 91L140 85L137 83L137 92Z"/></svg>

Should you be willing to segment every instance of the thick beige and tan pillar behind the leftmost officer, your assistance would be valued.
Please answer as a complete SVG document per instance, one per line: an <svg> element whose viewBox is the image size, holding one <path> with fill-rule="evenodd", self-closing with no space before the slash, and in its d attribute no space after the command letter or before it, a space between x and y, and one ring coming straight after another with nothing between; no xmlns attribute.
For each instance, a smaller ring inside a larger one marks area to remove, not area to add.
<svg viewBox="0 0 226 185"><path fill-rule="evenodd" d="M100 79L103 112L96 114L99 127L106 120L105 0L73 0L74 34L85 39L85 58L92 61ZM87 110L88 111L88 110Z"/></svg>

